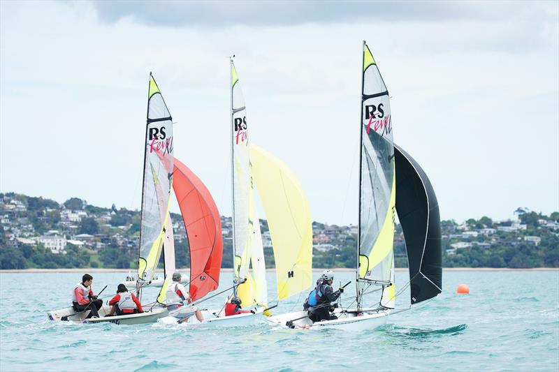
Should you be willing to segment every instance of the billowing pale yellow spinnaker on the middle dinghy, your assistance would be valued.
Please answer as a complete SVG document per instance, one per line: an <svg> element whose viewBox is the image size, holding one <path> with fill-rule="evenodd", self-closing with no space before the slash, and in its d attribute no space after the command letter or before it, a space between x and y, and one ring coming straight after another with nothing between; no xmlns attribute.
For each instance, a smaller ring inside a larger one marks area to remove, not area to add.
<svg viewBox="0 0 559 372"><path fill-rule="evenodd" d="M250 151L272 238L277 294L284 299L312 285L310 207L303 188L282 161L254 144Z"/></svg>

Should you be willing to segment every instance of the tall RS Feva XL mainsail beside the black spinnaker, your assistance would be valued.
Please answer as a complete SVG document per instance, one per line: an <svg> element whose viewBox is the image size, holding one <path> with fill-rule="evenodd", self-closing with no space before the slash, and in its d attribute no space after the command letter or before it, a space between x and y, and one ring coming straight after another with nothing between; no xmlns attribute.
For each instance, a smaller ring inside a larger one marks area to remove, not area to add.
<svg viewBox="0 0 559 372"><path fill-rule="evenodd" d="M395 165L390 100L365 42L360 158L358 278L384 285L381 304L393 307ZM357 290L359 299L359 285Z"/></svg>

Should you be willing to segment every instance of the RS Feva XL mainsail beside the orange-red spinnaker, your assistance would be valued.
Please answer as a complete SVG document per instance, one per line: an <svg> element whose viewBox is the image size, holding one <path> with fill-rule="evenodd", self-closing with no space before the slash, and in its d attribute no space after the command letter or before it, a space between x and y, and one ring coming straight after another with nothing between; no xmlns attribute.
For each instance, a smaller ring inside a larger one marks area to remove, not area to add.
<svg viewBox="0 0 559 372"><path fill-rule="evenodd" d="M151 281L170 225L173 184L173 122L161 91L150 73L140 223L138 281Z"/></svg>

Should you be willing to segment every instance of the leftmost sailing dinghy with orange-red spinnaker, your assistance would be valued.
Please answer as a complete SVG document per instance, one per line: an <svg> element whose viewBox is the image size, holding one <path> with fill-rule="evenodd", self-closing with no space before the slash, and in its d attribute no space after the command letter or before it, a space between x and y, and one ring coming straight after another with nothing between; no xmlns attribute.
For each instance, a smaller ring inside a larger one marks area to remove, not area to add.
<svg viewBox="0 0 559 372"><path fill-rule="evenodd" d="M184 214L202 216L204 214L204 204L202 202L184 202L190 193L191 184L196 184L202 191L205 198L208 199L209 192L203 186L201 181L194 175L194 173L187 170L180 161L174 163L173 158L173 122L166 106L166 103L161 96L161 91L157 87L154 77L150 73L150 85L147 101L147 127L145 135L145 152L144 152L144 176L143 176L143 193L142 193L142 209L141 209L141 225L140 225L140 247L138 254L138 272L136 283L136 293L138 299L142 298L142 288L152 283L154 279L155 270L159 264L161 251L164 252L164 276L170 278L170 275L175 271L175 246L173 239L173 225L170 219L170 191L173 187L175 195L181 205L184 223L187 223ZM173 175L174 174L174 175ZM177 179L177 184L173 179ZM186 181L185 181L186 179ZM201 185L201 186L200 186ZM197 189L198 190L198 189ZM194 198L198 198L198 192L191 193ZM211 202L211 196L209 196ZM186 203L186 204L185 204ZM183 209L183 206L186 207ZM213 204L215 207L215 203ZM212 255L215 262L208 267L212 269L213 278L219 281L219 266L221 266L221 246L222 235L221 225L219 221L219 213L217 208L212 210L212 216L217 216L217 232L215 232L215 255ZM191 224L190 224L191 225ZM191 230L187 226L187 232ZM190 240L191 251L197 251L200 246L194 233ZM192 254L191 254L192 256ZM216 258L217 257L217 258ZM196 261L196 259L194 259ZM215 274L215 266L217 265L217 275ZM191 273L196 272L196 269L191 269ZM191 274L192 275L192 274ZM199 275L196 278L198 282L204 281L205 276ZM208 280L210 283L211 280ZM199 285L201 287L212 288L213 284ZM215 284L217 287L217 283ZM192 287L191 287L192 288ZM158 296L157 301L152 303L153 306L143 305L144 313L130 314L130 315L117 315L106 316L110 311L110 306L104 305L99 309L101 318L89 318L89 310L77 313L73 308L63 308L57 311L48 313L50 320L68 320L73 322L112 322L120 325L133 325L140 323L155 322L157 319L162 318L168 314L166 306L164 305L164 290L163 295Z"/></svg>

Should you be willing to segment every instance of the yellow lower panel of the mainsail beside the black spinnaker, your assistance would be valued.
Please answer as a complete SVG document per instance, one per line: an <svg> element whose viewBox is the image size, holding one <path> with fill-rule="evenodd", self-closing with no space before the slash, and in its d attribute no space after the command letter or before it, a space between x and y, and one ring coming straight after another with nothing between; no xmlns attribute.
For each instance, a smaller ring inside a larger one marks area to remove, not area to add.
<svg viewBox="0 0 559 372"><path fill-rule="evenodd" d="M393 255L393 245L394 245L394 218L395 218L395 204L396 204L396 177L392 179L392 191L390 196L390 202L388 206L388 211L386 213L386 218L384 218L384 223L379 232L379 236L375 240L375 244L372 246L370 255L359 257L359 277L365 278L368 271L374 269L383 260L392 257ZM391 262L387 262L386 274L389 275ZM388 279L388 278L387 278Z"/></svg>

